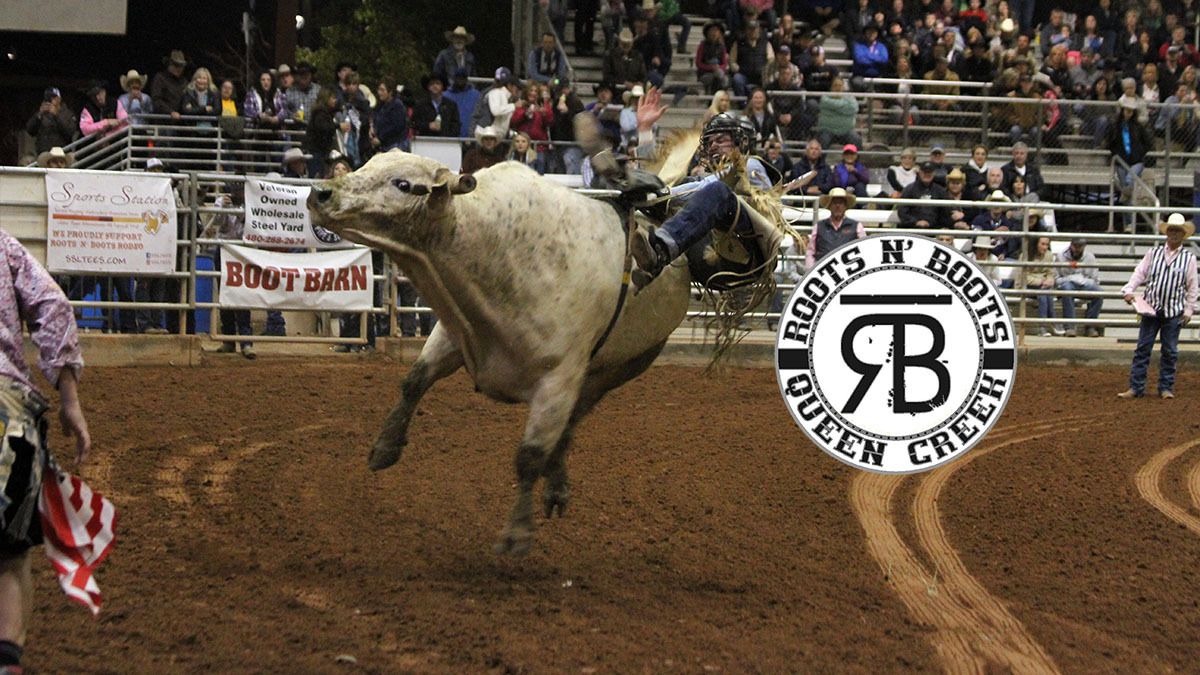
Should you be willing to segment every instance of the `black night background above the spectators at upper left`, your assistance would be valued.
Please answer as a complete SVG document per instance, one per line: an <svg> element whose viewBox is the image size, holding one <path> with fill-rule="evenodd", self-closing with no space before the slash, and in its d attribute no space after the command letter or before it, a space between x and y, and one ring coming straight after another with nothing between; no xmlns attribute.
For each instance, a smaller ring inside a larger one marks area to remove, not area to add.
<svg viewBox="0 0 1200 675"><path fill-rule="evenodd" d="M442 34L460 24L476 36L472 50L479 59L480 72L512 65L511 0L376 1L404 13L404 25L395 30L412 36L403 40L416 42L427 67L445 47ZM252 62L256 67L280 62L294 66L289 41L319 48L320 28L344 20L361 0L257 0L254 5L258 34ZM17 133L37 110L47 86L58 86L64 102L78 114L82 91L89 82L104 80L109 101L115 101L121 94L120 76L136 68L152 77L162 70L162 60L172 49L182 49L187 55L192 64L188 73L194 66L205 66L218 80L244 79L241 14L250 8L247 0L128 0L127 7L125 35L0 31L0 163L17 162ZM293 19L287 29L292 35L276 31L281 8L286 16L304 14L305 29L296 34ZM281 46L282 54L277 54ZM10 59L8 53L16 58ZM330 73L318 73L318 82L330 79Z"/></svg>

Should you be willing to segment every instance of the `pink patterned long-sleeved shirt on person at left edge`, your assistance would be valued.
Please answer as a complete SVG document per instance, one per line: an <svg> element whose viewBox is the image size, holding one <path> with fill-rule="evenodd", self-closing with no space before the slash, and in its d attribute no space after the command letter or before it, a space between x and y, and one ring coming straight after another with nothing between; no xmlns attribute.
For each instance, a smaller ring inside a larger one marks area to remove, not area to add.
<svg viewBox="0 0 1200 675"><path fill-rule="evenodd" d="M37 345L37 368L58 387L59 372L83 368L74 311L46 268L19 241L0 229L0 377L34 387L25 363L22 322Z"/></svg>

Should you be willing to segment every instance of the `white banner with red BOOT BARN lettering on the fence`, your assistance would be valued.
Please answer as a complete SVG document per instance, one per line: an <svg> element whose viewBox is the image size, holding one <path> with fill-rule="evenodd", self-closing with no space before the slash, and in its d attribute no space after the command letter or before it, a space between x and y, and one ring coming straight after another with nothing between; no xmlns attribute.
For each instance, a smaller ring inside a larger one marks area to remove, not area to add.
<svg viewBox="0 0 1200 675"><path fill-rule="evenodd" d="M371 249L280 253L221 246L221 306L366 311L374 277Z"/></svg>

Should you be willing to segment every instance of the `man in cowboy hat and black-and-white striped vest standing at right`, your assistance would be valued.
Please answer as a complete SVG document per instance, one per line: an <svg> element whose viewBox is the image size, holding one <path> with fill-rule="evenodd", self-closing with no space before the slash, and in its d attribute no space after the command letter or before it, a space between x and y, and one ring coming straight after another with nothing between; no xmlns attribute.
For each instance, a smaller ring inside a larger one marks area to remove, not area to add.
<svg viewBox="0 0 1200 675"><path fill-rule="evenodd" d="M1118 399L1139 399L1146 392L1146 369L1154 336L1162 334L1162 358L1158 364L1158 395L1175 398L1175 362L1180 353L1180 329L1192 321L1196 305L1196 259L1183 247L1183 240L1195 233L1195 225L1186 222L1182 214L1171 214L1159 225L1166 234L1166 244L1154 246L1133 270L1129 283L1121 292L1126 303L1138 310L1141 328L1138 331L1138 348L1133 353L1129 370L1129 388L1117 394ZM1142 297L1134 291L1146 283Z"/></svg>

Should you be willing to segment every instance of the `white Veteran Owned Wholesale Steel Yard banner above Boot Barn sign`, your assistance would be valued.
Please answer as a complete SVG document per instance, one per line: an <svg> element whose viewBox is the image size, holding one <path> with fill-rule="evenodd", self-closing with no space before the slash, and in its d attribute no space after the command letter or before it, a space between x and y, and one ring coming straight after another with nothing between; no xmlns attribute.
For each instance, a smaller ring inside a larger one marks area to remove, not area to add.
<svg viewBox="0 0 1200 675"><path fill-rule="evenodd" d="M308 220L310 187L283 185L266 180L246 180L246 227L241 240L247 244L294 249L346 249L353 246L336 233L312 225Z"/></svg>

